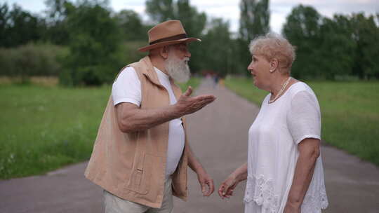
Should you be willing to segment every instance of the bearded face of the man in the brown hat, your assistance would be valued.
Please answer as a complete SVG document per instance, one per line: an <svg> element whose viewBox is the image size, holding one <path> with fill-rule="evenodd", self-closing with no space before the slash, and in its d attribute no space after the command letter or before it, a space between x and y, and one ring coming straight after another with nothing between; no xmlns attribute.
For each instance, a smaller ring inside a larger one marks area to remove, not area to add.
<svg viewBox="0 0 379 213"><path fill-rule="evenodd" d="M165 61L166 71L175 81L186 82L189 80L188 61L191 57L187 48L187 43L180 43L168 48L168 57Z"/></svg>

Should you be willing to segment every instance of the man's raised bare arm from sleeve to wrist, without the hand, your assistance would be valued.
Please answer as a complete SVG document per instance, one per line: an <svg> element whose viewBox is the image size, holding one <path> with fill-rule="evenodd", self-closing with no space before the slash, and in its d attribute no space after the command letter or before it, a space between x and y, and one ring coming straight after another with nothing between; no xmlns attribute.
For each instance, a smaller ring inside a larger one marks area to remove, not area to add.
<svg viewBox="0 0 379 213"><path fill-rule="evenodd" d="M128 105L124 104L116 108L118 119L121 120L119 121L119 128L123 132L147 130L182 116L178 110L175 109L175 105L158 109L135 108L125 110L124 107L128 107Z"/></svg>

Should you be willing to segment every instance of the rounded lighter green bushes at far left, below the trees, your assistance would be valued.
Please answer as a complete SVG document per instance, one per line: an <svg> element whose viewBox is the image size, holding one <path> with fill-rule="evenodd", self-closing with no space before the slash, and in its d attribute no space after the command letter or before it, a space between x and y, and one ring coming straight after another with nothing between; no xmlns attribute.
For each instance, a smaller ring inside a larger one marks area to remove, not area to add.
<svg viewBox="0 0 379 213"><path fill-rule="evenodd" d="M21 78L23 83L30 76L58 76L62 70L60 60L67 54L67 48L51 44L0 48L0 76Z"/></svg>

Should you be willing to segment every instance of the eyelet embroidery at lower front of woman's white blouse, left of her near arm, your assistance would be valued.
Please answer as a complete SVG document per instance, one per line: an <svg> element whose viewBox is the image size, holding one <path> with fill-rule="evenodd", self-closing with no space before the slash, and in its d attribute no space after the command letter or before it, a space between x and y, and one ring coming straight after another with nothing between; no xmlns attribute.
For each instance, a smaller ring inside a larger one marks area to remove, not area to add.
<svg viewBox="0 0 379 213"><path fill-rule="evenodd" d="M279 208L279 195L274 194L274 180L266 179L262 174L258 177L248 176L244 202L252 200L268 212L276 213Z"/></svg>

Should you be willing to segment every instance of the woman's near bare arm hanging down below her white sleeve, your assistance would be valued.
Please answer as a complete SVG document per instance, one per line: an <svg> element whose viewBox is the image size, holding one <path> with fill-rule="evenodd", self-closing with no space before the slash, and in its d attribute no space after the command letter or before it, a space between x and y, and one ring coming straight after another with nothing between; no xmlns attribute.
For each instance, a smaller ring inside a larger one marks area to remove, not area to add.
<svg viewBox="0 0 379 213"><path fill-rule="evenodd" d="M307 138L298 144L299 157L284 213L300 212L302 201L312 180L316 160L320 156L320 140Z"/></svg>

